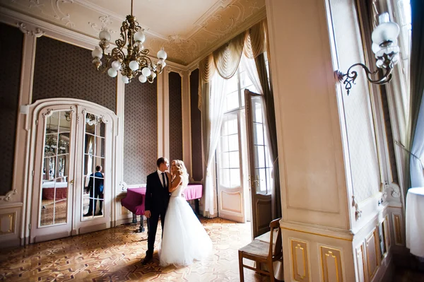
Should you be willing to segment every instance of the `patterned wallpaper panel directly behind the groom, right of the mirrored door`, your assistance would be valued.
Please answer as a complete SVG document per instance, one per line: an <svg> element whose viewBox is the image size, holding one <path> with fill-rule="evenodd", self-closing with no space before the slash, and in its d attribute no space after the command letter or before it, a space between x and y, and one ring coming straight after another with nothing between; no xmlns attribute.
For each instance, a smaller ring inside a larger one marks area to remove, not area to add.
<svg viewBox="0 0 424 282"><path fill-rule="evenodd" d="M124 96L124 182L146 183L158 159L158 110L156 79L125 85Z"/></svg>

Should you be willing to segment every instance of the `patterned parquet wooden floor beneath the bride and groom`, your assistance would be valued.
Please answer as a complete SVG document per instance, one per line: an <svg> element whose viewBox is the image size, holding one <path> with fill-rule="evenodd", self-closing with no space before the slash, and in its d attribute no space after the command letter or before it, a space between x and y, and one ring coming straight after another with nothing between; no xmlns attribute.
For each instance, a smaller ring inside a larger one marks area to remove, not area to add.
<svg viewBox="0 0 424 282"><path fill-rule="evenodd" d="M0 249L0 281L239 281L237 250L251 240L250 223L201 218L213 241L208 259L185 267L141 264L147 234L120 225L94 233ZM156 244L160 239L160 224ZM245 269L245 281L269 278Z"/></svg>

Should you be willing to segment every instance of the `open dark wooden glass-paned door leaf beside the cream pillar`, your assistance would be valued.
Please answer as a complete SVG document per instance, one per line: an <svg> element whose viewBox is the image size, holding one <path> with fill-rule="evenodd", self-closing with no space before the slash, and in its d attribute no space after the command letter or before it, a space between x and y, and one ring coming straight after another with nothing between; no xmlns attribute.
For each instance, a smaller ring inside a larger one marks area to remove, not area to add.
<svg viewBox="0 0 424 282"><path fill-rule="evenodd" d="M272 163L265 122L264 97L245 90L249 180L252 194L253 237L269 231L272 220Z"/></svg>

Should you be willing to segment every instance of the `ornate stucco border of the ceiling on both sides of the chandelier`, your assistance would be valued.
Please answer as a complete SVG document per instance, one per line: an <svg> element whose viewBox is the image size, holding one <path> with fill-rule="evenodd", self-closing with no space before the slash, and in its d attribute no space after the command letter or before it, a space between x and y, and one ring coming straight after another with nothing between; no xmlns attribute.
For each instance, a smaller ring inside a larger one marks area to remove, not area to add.
<svg viewBox="0 0 424 282"><path fill-rule="evenodd" d="M83 41L96 42L91 48L97 45L98 33L103 28L112 34L114 42L125 18L90 0L11 0L1 1L0 9L3 9L1 6L16 11L16 14L23 13L25 18L33 18L30 21L18 18L18 22L35 23L46 32L50 29L62 33L64 28L65 35L79 33L81 36L76 36L79 40L88 36L91 39ZM187 34L175 30L171 34L160 35L140 24L148 35L144 45L150 49L152 57L165 47L167 62L188 66L265 17L265 0L219 0L193 23L194 28ZM50 24L49 29L38 22ZM51 28L54 25L56 27Z"/></svg>

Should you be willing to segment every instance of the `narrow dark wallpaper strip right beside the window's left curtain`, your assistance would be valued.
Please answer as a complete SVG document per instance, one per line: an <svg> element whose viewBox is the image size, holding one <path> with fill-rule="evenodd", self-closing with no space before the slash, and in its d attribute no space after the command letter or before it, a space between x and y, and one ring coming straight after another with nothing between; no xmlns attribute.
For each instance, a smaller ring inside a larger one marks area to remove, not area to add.
<svg viewBox="0 0 424 282"><path fill-rule="evenodd" d="M199 69L192 71L190 76L190 109L192 110L192 168L193 179L201 181L203 178L203 160L201 154L201 112L197 107L199 98Z"/></svg>

